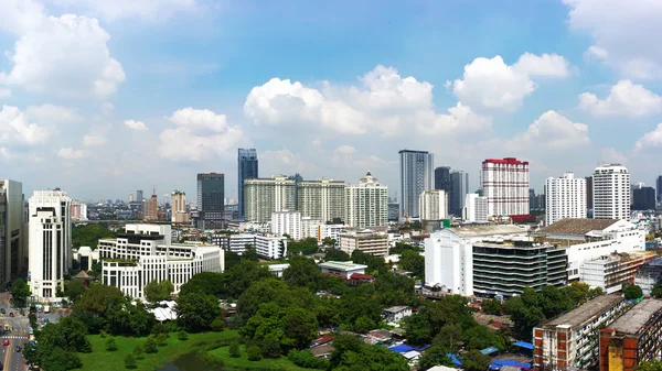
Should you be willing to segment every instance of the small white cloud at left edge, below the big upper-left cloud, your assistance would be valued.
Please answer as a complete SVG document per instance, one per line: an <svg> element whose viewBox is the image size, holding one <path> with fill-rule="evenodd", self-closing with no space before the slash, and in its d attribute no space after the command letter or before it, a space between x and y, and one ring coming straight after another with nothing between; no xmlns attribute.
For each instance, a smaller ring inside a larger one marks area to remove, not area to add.
<svg viewBox="0 0 662 371"><path fill-rule="evenodd" d="M35 145L44 143L52 130L31 123L18 107L2 106L0 110L0 144Z"/></svg>

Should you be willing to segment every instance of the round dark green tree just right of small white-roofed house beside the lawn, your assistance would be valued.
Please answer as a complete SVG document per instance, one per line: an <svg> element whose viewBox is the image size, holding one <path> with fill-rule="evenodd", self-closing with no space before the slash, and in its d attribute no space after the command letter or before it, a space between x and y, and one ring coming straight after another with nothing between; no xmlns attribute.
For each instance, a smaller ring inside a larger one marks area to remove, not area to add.
<svg viewBox="0 0 662 371"><path fill-rule="evenodd" d="M179 295L177 314L178 324L186 331L205 330L214 319L221 317L218 298L200 292Z"/></svg>

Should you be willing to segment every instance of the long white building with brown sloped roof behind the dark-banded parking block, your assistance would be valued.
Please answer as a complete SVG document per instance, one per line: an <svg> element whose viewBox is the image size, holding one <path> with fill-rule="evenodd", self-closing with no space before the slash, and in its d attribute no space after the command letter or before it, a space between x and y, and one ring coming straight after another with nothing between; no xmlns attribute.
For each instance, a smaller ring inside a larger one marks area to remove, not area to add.
<svg viewBox="0 0 662 371"><path fill-rule="evenodd" d="M568 257L568 281L581 279L585 262L613 252L629 253L645 250L645 230L627 220L562 219L537 233L544 241L565 248Z"/></svg>

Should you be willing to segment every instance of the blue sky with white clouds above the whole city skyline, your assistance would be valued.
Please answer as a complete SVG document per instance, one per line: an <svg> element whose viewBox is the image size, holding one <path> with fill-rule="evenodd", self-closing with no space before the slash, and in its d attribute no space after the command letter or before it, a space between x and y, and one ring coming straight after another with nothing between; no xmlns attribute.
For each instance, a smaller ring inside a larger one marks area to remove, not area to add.
<svg viewBox="0 0 662 371"><path fill-rule="evenodd" d="M191 196L260 175L397 190L397 151L470 174L662 170L662 4L617 0L0 0L0 161L24 189ZM190 197L193 199L193 197Z"/></svg>

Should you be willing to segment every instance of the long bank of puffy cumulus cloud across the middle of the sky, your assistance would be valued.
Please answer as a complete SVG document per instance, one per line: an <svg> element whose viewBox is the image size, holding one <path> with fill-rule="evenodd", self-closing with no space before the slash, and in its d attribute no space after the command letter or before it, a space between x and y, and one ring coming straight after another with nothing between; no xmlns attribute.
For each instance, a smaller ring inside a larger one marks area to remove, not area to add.
<svg viewBox="0 0 662 371"><path fill-rule="evenodd" d="M437 113L433 85L402 77L393 67L376 66L359 80L361 86L350 87L324 81L318 89L273 78L250 90L244 112L257 124L298 124L340 134L395 135L412 123L444 133L484 128L485 120L461 105L451 108L450 114ZM456 113L463 114L465 120L451 118ZM479 122L469 122L471 119Z"/></svg>

